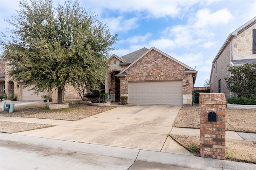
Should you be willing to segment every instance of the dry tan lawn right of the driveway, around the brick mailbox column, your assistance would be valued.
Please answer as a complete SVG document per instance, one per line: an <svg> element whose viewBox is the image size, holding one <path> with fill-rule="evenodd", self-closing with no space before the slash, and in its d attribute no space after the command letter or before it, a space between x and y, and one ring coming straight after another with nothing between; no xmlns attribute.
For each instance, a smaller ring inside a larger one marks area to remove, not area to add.
<svg viewBox="0 0 256 170"><path fill-rule="evenodd" d="M187 120L187 121L184 121ZM197 128L200 126L200 107L183 106L174 122L174 127ZM226 131L256 133L256 111L250 109L226 109ZM183 147L200 155L200 137L170 135ZM256 141L226 139L226 159L256 163Z"/></svg>

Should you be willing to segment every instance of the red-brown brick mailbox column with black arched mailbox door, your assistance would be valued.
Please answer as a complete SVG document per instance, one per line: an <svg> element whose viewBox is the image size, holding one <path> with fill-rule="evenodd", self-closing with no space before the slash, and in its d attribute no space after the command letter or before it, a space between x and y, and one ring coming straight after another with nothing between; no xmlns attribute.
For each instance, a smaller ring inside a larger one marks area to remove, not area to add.
<svg viewBox="0 0 256 170"><path fill-rule="evenodd" d="M202 93L200 103L200 156L226 159L225 94Z"/></svg>

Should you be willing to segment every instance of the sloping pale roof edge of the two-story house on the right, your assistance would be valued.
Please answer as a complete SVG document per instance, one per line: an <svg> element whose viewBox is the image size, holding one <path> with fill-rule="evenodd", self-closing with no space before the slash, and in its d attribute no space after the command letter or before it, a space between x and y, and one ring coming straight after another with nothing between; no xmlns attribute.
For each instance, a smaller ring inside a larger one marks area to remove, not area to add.
<svg viewBox="0 0 256 170"><path fill-rule="evenodd" d="M220 48L220 50L218 51L217 55L215 56L215 58L213 59L212 63L214 63L221 51L224 49L224 47L229 43L228 41L230 41L234 36L242 33L243 31L245 31L246 29L250 28L252 25L256 24L256 17L252 18L252 20L246 22L244 25L242 25L241 27L239 27L238 29L236 29L235 31L233 31L232 33L230 33L230 35L228 35L228 38L225 40L224 44L222 45L222 47Z"/></svg>

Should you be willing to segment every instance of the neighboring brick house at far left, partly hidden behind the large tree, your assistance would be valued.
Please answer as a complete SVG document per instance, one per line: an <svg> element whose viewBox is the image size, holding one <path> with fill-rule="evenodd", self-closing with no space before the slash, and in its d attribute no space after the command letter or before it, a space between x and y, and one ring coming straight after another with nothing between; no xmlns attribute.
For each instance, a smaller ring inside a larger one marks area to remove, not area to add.
<svg viewBox="0 0 256 170"><path fill-rule="evenodd" d="M34 94L34 91L31 90L32 87L24 87L22 81L15 81L8 75L8 71L11 69L10 61L6 57L6 53L3 53L0 57L0 95L6 94L10 96L14 94L17 96L17 100L44 100L41 96L46 94L56 101L58 98L58 90L53 90L52 92L40 92L38 95ZM75 92L73 86L66 85L63 93L63 100L69 99L80 99L79 95Z"/></svg>

